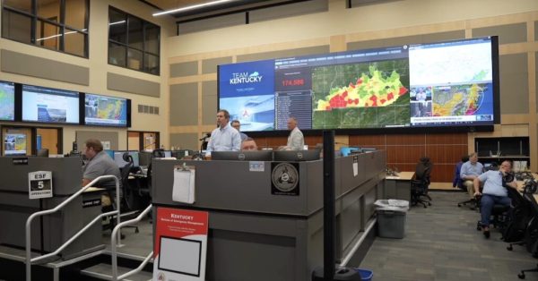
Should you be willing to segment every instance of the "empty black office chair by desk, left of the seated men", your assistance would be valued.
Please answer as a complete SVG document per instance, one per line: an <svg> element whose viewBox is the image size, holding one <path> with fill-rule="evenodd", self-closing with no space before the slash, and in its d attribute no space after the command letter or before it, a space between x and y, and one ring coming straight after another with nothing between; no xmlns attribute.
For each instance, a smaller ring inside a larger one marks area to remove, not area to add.
<svg viewBox="0 0 538 281"><path fill-rule="evenodd" d="M428 189L430 187L430 175L433 163L430 162L430 158L421 158L421 161L415 168L415 175L411 180L411 204L415 206L421 204L424 208L431 206L431 197L428 195ZM422 199L422 197L428 200Z"/></svg>

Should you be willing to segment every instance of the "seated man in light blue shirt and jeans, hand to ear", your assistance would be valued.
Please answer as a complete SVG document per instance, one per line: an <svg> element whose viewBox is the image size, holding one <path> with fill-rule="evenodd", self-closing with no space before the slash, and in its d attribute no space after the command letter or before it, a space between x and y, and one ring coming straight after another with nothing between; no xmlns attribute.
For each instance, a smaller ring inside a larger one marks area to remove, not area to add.
<svg viewBox="0 0 538 281"><path fill-rule="evenodd" d="M481 200L481 225L482 232L486 238L490 238L490 216L493 205L510 206L511 200L508 197L507 188L517 188L516 179L512 178L510 183L505 183L503 177L512 170L512 162L505 160L499 167L499 171L488 171L474 179L475 196L482 195ZM484 183L484 188L480 192L480 183Z"/></svg>

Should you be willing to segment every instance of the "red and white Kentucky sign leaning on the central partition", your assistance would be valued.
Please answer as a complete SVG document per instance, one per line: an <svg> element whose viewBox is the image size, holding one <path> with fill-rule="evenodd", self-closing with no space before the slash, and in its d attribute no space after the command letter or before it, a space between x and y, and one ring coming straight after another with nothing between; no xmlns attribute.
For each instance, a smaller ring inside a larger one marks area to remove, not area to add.
<svg viewBox="0 0 538 281"><path fill-rule="evenodd" d="M154 281L205 280L208 213L157 208Z"/></svg>

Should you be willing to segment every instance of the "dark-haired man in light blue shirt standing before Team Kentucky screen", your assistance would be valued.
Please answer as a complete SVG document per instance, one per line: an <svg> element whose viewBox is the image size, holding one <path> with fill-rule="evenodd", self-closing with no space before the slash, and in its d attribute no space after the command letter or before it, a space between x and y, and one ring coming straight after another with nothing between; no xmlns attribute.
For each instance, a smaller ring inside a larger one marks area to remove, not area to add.
<svg viewBox="0 0 538 281"><path fill-rule="evenodd" d="M211 139L207 143L206 156L211 157L212 151L239 151L241 149L241 136L238 130L229 124L230 113L221 109L217 112L217 125L211 132Z"/></svg>

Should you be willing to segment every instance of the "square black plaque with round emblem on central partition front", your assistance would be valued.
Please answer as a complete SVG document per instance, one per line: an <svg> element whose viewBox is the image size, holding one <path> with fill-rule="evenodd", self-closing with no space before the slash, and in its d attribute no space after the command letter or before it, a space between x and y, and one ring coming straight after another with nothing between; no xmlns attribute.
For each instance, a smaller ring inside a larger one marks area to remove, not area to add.
<svg viewBox="0 0 538 281"><path fill-rule="evenodd" d="M272 163L271 194L299 196L297 163Z"/></svg>

